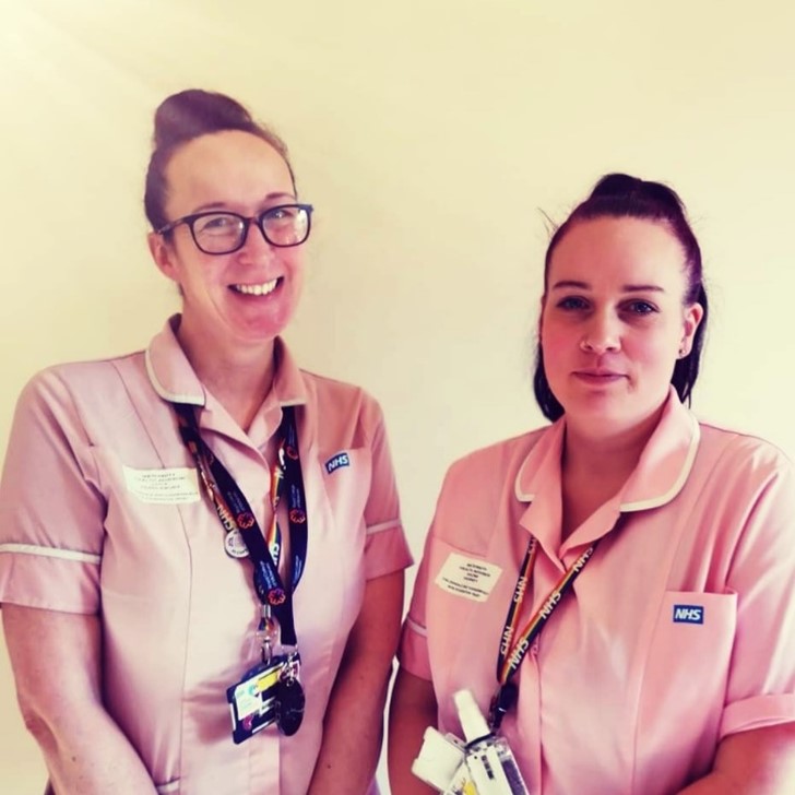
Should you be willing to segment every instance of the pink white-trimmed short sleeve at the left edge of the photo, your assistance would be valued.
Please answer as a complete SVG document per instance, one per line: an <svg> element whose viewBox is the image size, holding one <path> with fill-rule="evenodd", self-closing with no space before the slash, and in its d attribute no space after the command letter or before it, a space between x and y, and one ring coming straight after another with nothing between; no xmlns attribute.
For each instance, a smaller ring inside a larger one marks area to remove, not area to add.
<svg viewBox="0 0 795 795"><path fill-rule="evenodd" d="M84 425L46 370L20 396L0 480L0 602L96 613L104 517Z"/></svg>

